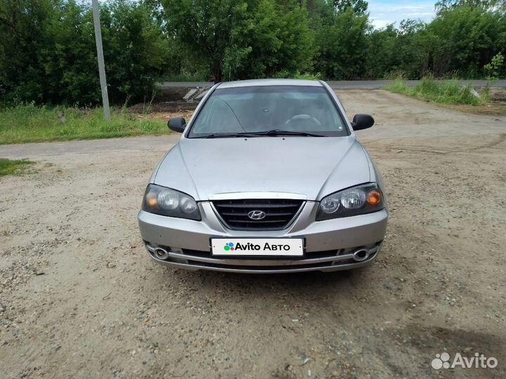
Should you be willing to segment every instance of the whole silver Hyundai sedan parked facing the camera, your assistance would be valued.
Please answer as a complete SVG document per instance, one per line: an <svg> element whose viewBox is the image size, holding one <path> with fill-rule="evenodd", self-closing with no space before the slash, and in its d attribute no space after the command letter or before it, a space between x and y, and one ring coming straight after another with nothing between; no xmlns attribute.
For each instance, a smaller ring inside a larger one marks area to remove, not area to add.
<svg viewBox="0 0 506 379"><path fill-rule="evenodd" d="M155 262L280 273L370 265L387 230L380 173L323 81L216 84L155 168L138 213Z"/></svg>

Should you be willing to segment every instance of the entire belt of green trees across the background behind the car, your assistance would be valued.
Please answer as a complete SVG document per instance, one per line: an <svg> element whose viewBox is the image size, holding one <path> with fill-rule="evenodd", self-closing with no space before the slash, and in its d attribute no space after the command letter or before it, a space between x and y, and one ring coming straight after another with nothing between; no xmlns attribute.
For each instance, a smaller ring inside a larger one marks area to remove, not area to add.
<svg viewBox="0 0 506 379"><path fill-rule="evenodd" d="M102 0L110 100L149 99L168 78L496 79L505 5L441 0L428 24L374 29L365 0ZM0 2L0 103L31 101L100 102L89 2Z"/></svg>

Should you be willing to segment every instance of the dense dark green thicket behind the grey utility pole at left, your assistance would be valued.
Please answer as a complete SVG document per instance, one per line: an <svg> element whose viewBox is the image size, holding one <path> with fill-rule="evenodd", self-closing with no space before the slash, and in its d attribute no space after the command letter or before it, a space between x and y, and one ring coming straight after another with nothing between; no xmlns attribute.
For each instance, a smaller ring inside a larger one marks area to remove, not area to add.
<svg viewBox="0 0 506 379"><path fill-rule="evenodd" d="M89 4L3 0L0 100L96 105L101 100ZM169 67L169 39L144 1L100 5L105 71L112 104L150 97Z"/></svg>

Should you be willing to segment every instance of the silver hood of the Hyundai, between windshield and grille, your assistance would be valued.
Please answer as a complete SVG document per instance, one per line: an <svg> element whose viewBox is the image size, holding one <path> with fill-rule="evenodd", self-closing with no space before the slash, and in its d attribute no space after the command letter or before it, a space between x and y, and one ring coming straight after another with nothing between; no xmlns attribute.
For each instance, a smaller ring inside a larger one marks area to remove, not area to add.
<svg viewBox="0 0 506 379"><path fill-rule="evenodd" d="M183 138L163 159L154 180L197 201L232 192L290 192L320 200L369 181L367 153L353 135Z"/></svg>

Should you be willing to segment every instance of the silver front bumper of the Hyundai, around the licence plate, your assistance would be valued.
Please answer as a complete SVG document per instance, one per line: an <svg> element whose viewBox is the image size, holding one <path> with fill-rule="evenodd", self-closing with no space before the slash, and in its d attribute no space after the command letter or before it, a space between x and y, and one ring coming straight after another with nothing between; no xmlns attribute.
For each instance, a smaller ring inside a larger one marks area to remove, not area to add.
<svg viewBox="0 0 506 379"><path fill-rule="evenodd" d="M318 203L306 201L292 225L268 232L227 229L216 216L212 204L199 203L202 221L138 213L141 235L155 262L186 270L215 270L245 273L337 271L370 265L382 246L387 230L386 209L347 218L315 221ZM213 258L212 237L286 238L303 237L303 258ZM164 259L157 249L166 252ZM363 260L353 252L367 251Z"/></svg>

